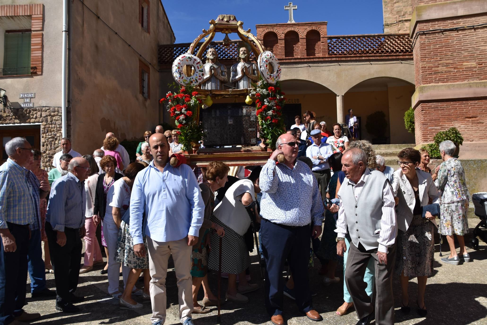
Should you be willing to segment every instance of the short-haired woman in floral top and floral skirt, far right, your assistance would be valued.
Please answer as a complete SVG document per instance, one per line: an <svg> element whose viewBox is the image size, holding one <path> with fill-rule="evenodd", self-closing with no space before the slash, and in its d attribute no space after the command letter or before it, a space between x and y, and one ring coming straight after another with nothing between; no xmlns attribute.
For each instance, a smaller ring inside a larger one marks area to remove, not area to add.
<svg viewBox="0 0 487 325"><path fill-rule="evenodd" d="M439 145L443 162L436 167L432 175L435 185L441 191L440 223L438 232L447 236L450 245L450 256L442 258L445 263L458 265L460 257L465 262L470 262L470 256L465 249L464 234L468 233L468 200L470 195L465 181L465 172L462 164L451 155L456 147L450 140L443 141ZM460 244L460 257L455 250L453 233L456 234Z"/></svg>

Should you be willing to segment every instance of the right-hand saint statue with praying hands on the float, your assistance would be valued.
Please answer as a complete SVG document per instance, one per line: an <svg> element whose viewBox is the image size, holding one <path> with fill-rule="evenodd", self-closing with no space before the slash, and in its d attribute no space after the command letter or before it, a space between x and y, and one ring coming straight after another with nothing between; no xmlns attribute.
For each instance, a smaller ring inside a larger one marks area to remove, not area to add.
<svg viewBox="0 0 487 325"><path fill-rule="evenodd" d="M230 83L235 83L237 89L252 88L251 82L259 81L257 65L249 62L249 52L245 45L240 45L240 61L231 67Z"/></svg>

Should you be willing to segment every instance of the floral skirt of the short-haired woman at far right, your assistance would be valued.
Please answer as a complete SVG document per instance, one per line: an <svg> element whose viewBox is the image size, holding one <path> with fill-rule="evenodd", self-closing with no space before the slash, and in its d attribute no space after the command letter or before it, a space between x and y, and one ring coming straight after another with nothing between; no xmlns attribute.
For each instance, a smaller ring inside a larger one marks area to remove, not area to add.
<svg viewBox="0 0 487 325"><path fill-rule="evenodd" d="M463 236L468 233L468 200L440 204L438 233Z"/></svg>

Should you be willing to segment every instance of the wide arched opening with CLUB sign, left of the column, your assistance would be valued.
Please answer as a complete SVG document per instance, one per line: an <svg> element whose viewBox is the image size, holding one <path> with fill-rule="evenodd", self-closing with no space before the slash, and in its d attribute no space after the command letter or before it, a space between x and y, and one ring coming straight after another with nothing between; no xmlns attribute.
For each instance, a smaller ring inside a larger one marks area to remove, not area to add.
<svg viewBox="0 0 487 325"><path fill-rule="evenodd" d="M281 90L286 94L286 105L283 108L286 128L294 124L294 117L307 110L315 112L315 119L325 121L329 126L337 122L337 95L317 82L303 79L281 80Z"/></svg>

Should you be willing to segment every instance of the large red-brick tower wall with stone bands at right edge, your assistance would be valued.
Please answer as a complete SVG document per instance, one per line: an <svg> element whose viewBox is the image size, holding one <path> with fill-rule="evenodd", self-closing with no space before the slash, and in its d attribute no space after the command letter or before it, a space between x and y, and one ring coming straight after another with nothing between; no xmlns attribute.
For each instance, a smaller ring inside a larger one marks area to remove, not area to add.
<svg viewBox="0 0 487 325"><path fill-rule="evenodd" d="M437 2L445 0L412 0L412 5ZM428 10L428 7L423 9ZM412 35L415 84L416 87L435 85L430 89L436 92L434 98L439 99L419 102L416 106L416 143L430 143L437 132L450 127L456 127L465 142L487 140L484 132L487 127L486 97L446 99L447 94L442 95L442 89L445 89L442 84L456 87L454 83L457 82L487 80L487 52L484 50L487 48L487 26L418 33L486 21L487 13L417 21Z"/></svg>

